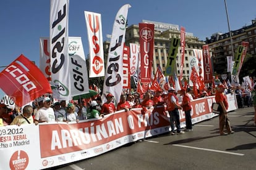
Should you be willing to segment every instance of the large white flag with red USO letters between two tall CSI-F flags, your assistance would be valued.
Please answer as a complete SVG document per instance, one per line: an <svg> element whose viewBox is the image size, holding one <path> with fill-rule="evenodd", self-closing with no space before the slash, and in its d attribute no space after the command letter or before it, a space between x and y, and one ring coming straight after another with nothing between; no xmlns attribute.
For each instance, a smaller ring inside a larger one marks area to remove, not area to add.
<svg viewBox="0 0 256 170"><path fill-rule="evenodd" d="M85 11L87 25L90 70L89 77L95 78L104 76L104 52L101 26L101 14Z"/></svg>

